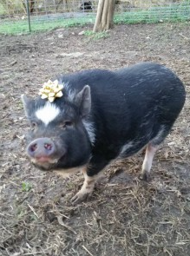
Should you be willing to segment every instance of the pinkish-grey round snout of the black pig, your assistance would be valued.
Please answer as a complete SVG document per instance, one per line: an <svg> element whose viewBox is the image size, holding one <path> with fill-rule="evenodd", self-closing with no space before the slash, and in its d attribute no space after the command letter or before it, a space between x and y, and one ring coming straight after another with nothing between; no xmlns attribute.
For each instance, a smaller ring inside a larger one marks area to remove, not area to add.
<svg viewBox="0 0 190 256"><path fill-rule="evenodd" d="M56 151L56 146L54 141L51 141L49 138L39 138L35 141L32 141L28 148L27 153L31 157L49 157L54 154Z"/></svg>

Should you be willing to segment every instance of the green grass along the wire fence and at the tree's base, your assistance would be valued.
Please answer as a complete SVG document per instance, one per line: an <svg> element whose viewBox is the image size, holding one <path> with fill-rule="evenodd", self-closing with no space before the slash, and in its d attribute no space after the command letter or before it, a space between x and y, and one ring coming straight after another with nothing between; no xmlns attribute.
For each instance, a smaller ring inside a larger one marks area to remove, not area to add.
<svg viewBox="0 0 190 256"><path fill-rule="evenodd" d="M165 7L154 7L148 10L135 10L128 11L123 14L115 14L114 22L119 23L159 23L159 22L181 22L190 20L190 4L186 5L174 5ZM31 20L31 30L32 32L42 31L42 30L53 30L56 28L67 28L74 27L78 25L85 25L88 23L95 23L95 15L84 16L80 18L57 18L53 17L51 19L43 17L43 20L36 20L35 17ZM29 25L28 20L20 21L4 21L0 23L0 33L3 34L18 34L18 33L28 33ZM108 36L107 34L93 35L94 39L100 39L102 37Z"/></svg>

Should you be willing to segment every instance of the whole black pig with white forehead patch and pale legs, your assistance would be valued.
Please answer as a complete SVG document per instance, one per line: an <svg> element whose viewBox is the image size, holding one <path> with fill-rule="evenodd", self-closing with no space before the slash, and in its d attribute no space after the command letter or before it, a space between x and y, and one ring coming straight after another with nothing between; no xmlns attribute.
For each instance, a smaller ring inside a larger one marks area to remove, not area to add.
<svg viewBox="0 0 190 256"><path fill-rule="evenodd" d="M147 180L159 145L185 102L180 79L161 64L144 62L108 71L84 70L56 78L62 97L50 103L23 95L31 129L27 154L46 171L81 169L85 181L72 199L92 194L102 169L146 147L141 179Z"/></svg>

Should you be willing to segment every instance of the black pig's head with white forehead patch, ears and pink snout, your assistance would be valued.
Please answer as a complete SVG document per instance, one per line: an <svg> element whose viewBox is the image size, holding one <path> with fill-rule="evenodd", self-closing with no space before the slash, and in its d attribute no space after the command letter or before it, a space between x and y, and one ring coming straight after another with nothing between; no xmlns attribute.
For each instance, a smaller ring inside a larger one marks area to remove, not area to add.
<svg viewBox="0 0 190 256"><path fill-rule="evenodd" d="M88 163L93 141L87 121L91 108L88 85L77 93L65 88L54 102L25 95L22 100L30 124L26 153L36 167L59 170Z"/></svg>

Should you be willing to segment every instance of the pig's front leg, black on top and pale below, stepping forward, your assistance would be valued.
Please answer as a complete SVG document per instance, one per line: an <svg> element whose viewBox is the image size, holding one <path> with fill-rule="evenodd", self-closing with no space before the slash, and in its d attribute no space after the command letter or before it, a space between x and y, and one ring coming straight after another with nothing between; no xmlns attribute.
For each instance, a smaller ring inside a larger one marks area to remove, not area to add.
<svg viewBox="0 0 190 256"><path fill-rule="evenodd" d="M87 200L91 196L95 188L95 182L102 176L102 171L107 164L108 161L102 160L102 157L94 156L88 166L82 169L84 182L80 191L71 199L72 203L75 204L82 200Z"/></svg>

